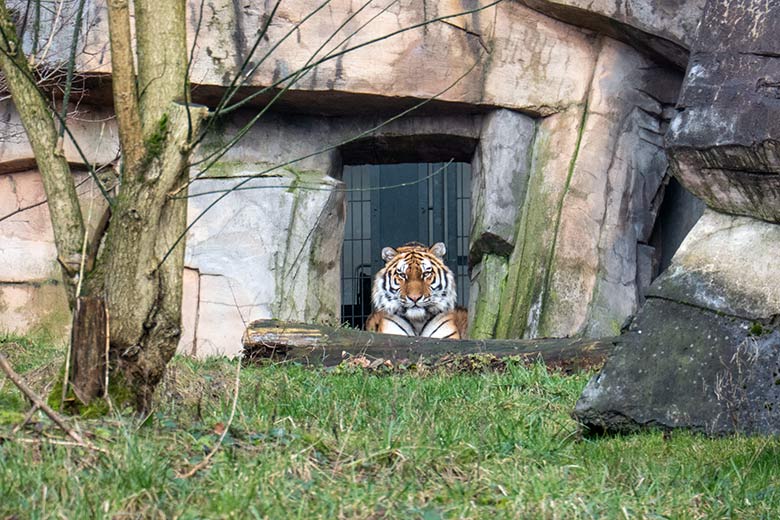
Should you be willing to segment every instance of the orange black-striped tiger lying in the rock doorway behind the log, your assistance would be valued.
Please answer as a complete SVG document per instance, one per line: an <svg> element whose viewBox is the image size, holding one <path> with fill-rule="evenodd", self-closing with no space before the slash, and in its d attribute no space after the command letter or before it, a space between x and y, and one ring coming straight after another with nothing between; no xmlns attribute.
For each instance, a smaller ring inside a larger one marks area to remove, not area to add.
<svg viewBox="0 0 780 520"><path fill-rule="evenodd" d="M446 252L442 242L382 249L385 266L374 277L366 330L465 339L468 313L456 306L455 276L443 261Z"/></svg>

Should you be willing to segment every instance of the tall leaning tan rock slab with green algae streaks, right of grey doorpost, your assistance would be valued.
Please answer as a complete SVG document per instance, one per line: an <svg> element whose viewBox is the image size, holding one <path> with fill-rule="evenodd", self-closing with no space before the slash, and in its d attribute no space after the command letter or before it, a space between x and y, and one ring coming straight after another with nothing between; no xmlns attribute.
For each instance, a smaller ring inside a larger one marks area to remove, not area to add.
<svg viewBox="0 0 780 520"><path fill-rule="evenodd" d="M636 311L678 84L651 68L604 39L587 98L538 124L497 337L610 335Z"/></svg>

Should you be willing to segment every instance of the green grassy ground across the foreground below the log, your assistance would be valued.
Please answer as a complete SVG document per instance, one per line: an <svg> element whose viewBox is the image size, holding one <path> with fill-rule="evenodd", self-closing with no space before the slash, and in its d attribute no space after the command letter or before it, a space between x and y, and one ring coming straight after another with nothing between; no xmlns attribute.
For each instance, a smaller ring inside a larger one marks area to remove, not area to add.
<svg viewBox="0 0 780 520"><path fill-rule="evenodd" d="M18 338L17 338L18 339ZM2 340L2 337L0 337ZM6 355L44 391L59 349ZM650 432L583 438L568 415L589 374L540 366L383 375L176 359L139 424L82 420L104 456L0 444L0 518L777 518L780 440ZM0 381L0 434L27 404Z"/></svg>

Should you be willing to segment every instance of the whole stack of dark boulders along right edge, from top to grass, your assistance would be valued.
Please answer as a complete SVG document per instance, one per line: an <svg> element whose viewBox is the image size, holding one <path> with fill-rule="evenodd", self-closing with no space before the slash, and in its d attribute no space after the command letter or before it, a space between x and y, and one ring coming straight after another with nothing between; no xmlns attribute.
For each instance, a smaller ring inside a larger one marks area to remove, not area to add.
<svg viewBox="0 0 780 520"><path fill-rule="evenodd" d="M583 392L592 430L780 433L778 30L774 3L706 3L667 144L713 209Z"/></svg>

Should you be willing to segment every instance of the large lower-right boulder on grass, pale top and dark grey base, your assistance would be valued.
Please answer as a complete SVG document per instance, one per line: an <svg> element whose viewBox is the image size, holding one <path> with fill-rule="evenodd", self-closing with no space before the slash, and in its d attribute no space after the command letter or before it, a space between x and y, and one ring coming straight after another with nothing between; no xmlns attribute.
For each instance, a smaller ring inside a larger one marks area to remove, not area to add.
<svg viewBox="0 0 780 520"><path fill-rule="evenodd" d="M777 258L780 226L705 212L575 418L596 432L780 434Z"/></svg>

